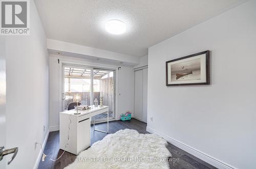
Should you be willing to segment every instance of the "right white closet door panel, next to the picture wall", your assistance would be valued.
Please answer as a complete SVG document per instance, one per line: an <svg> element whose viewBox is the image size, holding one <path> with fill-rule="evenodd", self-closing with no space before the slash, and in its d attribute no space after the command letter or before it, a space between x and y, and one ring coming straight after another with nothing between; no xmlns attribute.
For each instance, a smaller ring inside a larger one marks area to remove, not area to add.
<svg viewBox="0 0 256 169"><path fill-rule="evenodd" d="M143 69L142 121L147 122L147 68Z"/></svg>

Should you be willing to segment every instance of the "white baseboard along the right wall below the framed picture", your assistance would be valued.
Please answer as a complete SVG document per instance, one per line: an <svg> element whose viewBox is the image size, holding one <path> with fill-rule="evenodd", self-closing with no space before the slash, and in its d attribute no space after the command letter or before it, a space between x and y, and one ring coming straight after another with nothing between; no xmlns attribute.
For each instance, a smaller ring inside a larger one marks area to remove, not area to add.
<svg viewBox="0 0 256 169"><path fill-rule="evenodd" d="M168 137L168 136L166 136L166 135L164 135L164 134L162 134L162 133L160 133L160 132L158 132L158 131L150 128L150 127L146 127L146 131L150 132L150 133L155 133L155 134L163 137L168 143L170 143L170 144L172 144L172 145L174 145L174 146L176 146L176 147L178 147L178 148L196 156L197 158L200 158L201 160L203 160L203 161L205 161L205 162L207 162L207 163L209 163L209 164L211 164L211 165L213 165L217 168L220 168L220 169L237 169L236 167L233 167L230 164L227 164L227 163L225 163L225 162L223 162L223 161L221 161L217 158L211 157L211 156L209 156L209 155L207 155L207 154L205 154L205 153L203 153L203 152L201 152L201 151L199 151L199 150L197 150L193 147L190 147L190 146L188 146L188 145L186 145L186 144L184 144L184 143L182 143L182 142L180 142L180 141L178 141L174 138L170 138L170 137Z"/></svg>

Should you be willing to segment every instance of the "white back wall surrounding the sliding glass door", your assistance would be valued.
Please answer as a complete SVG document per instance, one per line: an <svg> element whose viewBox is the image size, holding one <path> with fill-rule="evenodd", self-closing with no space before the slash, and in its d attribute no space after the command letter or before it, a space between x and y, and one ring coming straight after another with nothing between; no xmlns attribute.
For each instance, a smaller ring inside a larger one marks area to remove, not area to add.
<svg viewBox="0 0 256 169"><path fill-rule="evenodd" d="M122 113L125 113L126 110L134 111L134 71L132 66L123 66L123 65L111 65L105 64L100 61L92 61L74 57L66 57L61 55L50 54L50 98L49 98L49 124L50 130L59 129L59 64L58 59L64 62L74 62L79 65L102 65L112 66L112 67L121 67L117 71L117 83L118 83L118 98L117 98L117 116ZM120 94L120 95L119 95Z"/></svg>

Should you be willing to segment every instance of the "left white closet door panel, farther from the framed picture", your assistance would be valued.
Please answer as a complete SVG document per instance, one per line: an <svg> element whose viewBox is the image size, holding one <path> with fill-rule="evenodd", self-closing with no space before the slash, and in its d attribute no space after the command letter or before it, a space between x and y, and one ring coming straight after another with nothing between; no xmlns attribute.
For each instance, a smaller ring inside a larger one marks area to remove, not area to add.
<svg viewBox="0 0 256 169"><path fill-rule="evenodd" d="M143 70L135 71L135 99L134 99L134 116L142 120L143 104Z"/></svg>

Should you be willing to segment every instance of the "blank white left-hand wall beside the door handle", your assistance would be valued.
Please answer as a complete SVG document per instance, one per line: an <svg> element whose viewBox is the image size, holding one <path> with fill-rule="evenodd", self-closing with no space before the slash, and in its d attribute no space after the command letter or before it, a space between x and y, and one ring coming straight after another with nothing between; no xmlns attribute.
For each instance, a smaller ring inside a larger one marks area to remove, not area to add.
<svg viewBox="0 0 256 169"><path fill-rule="evenodd" d="M49 56L46 35L30 1L30 35L6 36L6 148L18 147L7 168L33 168L49 129ZM45 131L43 131L46 126ZM5 157L7 160L12 156Z"/></svg>

